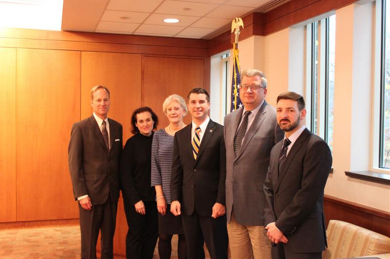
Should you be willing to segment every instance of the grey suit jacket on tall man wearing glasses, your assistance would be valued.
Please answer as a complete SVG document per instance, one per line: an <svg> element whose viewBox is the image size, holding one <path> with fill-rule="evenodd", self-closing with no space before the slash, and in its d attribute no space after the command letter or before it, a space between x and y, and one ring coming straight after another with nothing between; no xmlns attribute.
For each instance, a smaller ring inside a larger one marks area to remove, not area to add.
<svg viewBox="0 0 390 259"><path fill-rule="evenodd" d="M225 117L226 213L228 222L234 206L235 220L242 225L264 225L263 184L272 147L283 138L275 109L265 101L234 155L234 136L241 121L241 107Z"/></svg>

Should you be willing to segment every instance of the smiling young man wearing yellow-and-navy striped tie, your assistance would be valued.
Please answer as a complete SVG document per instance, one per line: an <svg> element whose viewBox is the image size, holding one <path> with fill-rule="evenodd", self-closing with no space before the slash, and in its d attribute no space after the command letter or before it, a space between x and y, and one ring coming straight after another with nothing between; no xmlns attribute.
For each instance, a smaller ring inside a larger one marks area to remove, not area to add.
<svg viewBox="0 0 390 259"><path fill-rule="evenodd" d="M204 258L206 242L212 259L227 259L223 126L208 116L205 89L192 89L187 99L192 123L174 138L171 212L182 214L188 258Z"/></svg>

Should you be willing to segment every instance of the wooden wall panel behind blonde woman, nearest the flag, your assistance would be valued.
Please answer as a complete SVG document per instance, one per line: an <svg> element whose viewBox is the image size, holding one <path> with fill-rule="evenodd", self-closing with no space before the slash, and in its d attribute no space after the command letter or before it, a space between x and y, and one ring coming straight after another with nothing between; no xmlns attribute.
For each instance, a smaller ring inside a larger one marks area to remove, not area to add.
<svg viewBox="0 0 390 259"><path fill-rule="evenodd" d="M171 94L178 94L187 102L187 94L194 87L204 87L204 60L195 58L144 57L144 105L156 112L158 128L168 125L162 103ZM210 81L210 77L207 79ZM207 86L206 86L207 88ZM184 117L186 124L191 115Z"/></svg>

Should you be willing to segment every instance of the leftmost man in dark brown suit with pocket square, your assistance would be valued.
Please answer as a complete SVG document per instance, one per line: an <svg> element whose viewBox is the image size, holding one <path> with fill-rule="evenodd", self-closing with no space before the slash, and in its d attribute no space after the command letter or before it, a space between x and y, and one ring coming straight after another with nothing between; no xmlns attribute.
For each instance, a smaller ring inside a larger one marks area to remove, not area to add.
<svg viewBox="0 0 390 259"><path fill-rule="evenodd" d="M122 125L107 118L110 91L105 86L91 90L91 117L72 126L68 149L73 193L78 200L81 258L96 259L101 230L101 258L113 258L113 238L119 197L119 156Z"/></svg>

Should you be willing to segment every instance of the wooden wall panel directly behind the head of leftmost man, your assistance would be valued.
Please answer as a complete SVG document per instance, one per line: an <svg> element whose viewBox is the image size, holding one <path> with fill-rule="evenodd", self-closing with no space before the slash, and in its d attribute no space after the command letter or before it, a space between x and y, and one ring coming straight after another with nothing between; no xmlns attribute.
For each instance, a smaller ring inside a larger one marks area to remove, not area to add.
<svg viewBox="0 0 390 259"><path fill-rule="evenodd" d="M81 118L92 115L91 88L110 89L108 117L123 126L123 144L130 138L130 117L141 105L141 55L109 52L81 53Z"/></svg>

